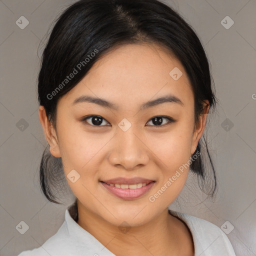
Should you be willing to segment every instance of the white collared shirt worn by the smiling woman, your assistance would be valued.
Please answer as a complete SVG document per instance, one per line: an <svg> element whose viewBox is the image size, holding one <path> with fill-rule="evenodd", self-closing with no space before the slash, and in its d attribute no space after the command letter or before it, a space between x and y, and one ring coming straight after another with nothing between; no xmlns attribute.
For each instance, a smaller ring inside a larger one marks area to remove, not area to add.
<svg viewBox="0 0 256 256"><path fill-rule="evenodd" d="M191 231L194 256L235 256L226 234L215 224L170 209L169 213L183 220ZM77 204L74 203L65 210L65 220L53 236L42 246L22 251L18 256L115 256L76 223L77 216Z"/></svg>

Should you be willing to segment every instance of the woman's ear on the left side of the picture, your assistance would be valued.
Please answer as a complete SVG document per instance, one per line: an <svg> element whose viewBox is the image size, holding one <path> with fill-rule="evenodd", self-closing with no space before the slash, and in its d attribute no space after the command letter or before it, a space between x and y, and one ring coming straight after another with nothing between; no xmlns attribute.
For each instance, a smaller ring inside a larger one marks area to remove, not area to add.
<svg viewBox="0 0 256 256"><path fill-rule="evenodd" d="M44 136L50 146L50 153L54 157L61 157L58 145L58 139L56 136L56 131L46 116L44 106L40 105L38 109L39 120L43 128ZM53 150L55 149L55 150Z"/></svg>

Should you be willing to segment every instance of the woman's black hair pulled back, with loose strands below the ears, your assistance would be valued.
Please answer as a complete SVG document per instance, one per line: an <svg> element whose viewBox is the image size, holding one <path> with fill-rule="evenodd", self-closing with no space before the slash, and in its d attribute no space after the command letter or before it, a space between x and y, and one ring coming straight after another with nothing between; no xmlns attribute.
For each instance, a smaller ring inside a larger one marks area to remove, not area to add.
<svg viewBox="0 0 256 256"><path fill-rule="evenodd" d="M209 101L210 109L215 108L214 83L200 39L171 7L158 0L79 0L57 18L43 50L38 74L38 101L54 128L58 99L72 89L100 57L127 43L158 44L181 62L194 95L195 123L202 113L204 100ZM89 61L85 63L86 57ZM74 68L79 69L78 72L63 84ZM61 89L56 91L56 87ZM196 153L198 157L191 162L190 169L197 174L202 191L206 187L204 192L213 196L216 176L205 139L199 140ZM205 155L210 160L210 172L205 168ZM52 187L63 183L62 172L61 158L53 157L46 148L40 163L40 185L46 198L54 203L59 202Z"/></svg>

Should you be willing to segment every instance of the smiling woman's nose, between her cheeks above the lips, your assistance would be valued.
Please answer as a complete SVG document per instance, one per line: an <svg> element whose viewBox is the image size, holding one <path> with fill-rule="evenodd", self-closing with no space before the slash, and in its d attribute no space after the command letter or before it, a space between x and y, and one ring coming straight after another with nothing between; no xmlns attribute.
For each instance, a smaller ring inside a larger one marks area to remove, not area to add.
<svg viewBox="0 0 256 256"><path fill-rule="evenodd" d="M149 161L149 149L141 133L132 129L132 126L126 131L117 129L108 160L111 165L122 166L126 170L146 165Z"/></svg>

